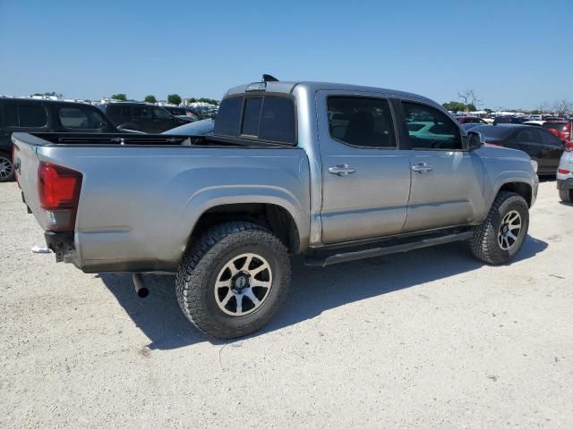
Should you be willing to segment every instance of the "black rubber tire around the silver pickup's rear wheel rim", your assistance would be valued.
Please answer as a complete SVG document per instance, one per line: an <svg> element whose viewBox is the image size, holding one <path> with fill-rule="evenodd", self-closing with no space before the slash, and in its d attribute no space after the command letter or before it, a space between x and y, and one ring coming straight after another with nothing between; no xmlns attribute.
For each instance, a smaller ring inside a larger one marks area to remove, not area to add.
<svg viewBox="0 0 573 429"><path fill-rule="evenodd" d="M271 286L268 296L252 313L228 315L215 298L216 282L221 270L245 253L266 259L272 275ZM290 260L283 243L254 223L230 222L211 228L192 243L179 266L175 292L184 315L197 329L211 337L229 339L255 332L267 324L285 299L289 283Z"/></svg>

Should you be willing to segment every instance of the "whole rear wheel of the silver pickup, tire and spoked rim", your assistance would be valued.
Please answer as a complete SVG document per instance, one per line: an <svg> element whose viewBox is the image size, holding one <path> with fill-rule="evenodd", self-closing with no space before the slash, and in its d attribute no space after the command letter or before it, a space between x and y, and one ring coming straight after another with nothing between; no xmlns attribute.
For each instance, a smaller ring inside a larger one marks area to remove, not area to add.
<svg viewBox="0 0 573 429"><path fill-rule="evenodd" d="M255 332L286 297L290 261L272 233L245 222L221 223L192 243L175 280L184 315L220 339Z"/></svg>

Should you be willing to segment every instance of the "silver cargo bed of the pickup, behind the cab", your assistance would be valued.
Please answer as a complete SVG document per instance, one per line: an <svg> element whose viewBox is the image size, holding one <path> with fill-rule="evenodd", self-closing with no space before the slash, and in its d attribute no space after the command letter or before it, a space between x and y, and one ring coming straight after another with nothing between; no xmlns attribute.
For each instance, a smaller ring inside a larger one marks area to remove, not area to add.
<svg viewBox="0 0 573 429"><path fill-rule="evenodd" d="M85 272L175 270L213 206L281 206L308 237L309 163L297 147L143 134L14 133L13 143L23 198L45 231L39 163L81 173L70 262Z"/></svg>

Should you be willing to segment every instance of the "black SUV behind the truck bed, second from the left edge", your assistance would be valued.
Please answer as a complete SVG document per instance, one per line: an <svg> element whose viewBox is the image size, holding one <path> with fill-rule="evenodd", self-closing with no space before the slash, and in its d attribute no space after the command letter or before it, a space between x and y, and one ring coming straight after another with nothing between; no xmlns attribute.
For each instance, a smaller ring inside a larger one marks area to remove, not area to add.
<svg viewBox="0 0 573 429"><path fill-rule="evenodd" d="M160 133L192 122L192 118L176 118L159 105L115 102L98 105L119 129Z"/></svg>

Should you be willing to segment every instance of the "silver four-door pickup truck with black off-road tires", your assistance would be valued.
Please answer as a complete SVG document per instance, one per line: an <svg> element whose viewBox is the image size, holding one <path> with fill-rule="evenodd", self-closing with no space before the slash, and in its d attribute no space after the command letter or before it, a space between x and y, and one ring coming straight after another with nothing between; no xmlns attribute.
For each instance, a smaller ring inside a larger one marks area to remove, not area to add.
<svg viewBox="0 0 573 429"><path fill-rule="evenodd" d="M440 105L381 88L262 81L228 90L213 136L14 133L22 198L57 261L176 273L184 314L233 338L309 265L468 241L488 264L526 240L535 161L483 145ZM141 293L142 294L142 293Z"/></svg>

